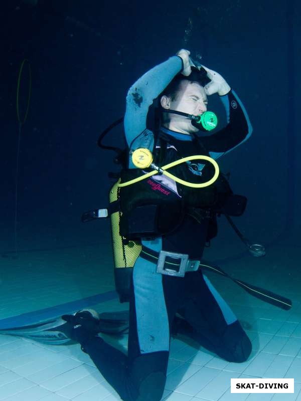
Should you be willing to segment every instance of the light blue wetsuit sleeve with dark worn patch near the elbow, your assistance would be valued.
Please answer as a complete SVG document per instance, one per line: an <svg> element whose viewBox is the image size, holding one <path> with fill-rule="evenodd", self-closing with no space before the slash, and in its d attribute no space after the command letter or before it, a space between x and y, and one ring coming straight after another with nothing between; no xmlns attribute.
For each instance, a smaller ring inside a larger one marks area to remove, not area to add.
<svg viewBox="0 0 301 401"><path fill-rule="evenodd" d="M149 106L182 68L182 59L179 56L173 56L147 71L129 88L124 116L125 139L129 147L146 129Z"/></svg>

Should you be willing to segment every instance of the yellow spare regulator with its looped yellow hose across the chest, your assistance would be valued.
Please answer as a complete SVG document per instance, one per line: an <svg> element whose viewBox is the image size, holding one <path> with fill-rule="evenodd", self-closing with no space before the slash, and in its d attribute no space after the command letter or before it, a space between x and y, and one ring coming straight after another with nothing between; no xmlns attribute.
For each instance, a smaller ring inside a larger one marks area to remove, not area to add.
<svg viewBox="0 0 301 401"><path fill-rule="evenodd" d="M137 153L135 154L135 152L137 152ZM181 164L181 163L185 163L186 161L200 160L200 159L209 161L210 163L213 164L214 169L215 169L213 177L207 182L202 182L200 184L196 184L196 183L193 183L193 182L184 181L183 179L178 178L175 175L171 174L170 172L166 171L168 168L174 167L174 166L176 166L178 164ZM139 182L142 179L148 178L148 177L150 177L150 176L152 176L154 174L158 174L160 172L160 173L165 174L166 176L174 179L175 181L179 182L182 185L191 186L192 188L204 188L206 186L209 186L209 185L213 184L213 182L216 181L216 179L217 179L217 177L219 175L219 167L218 167L217 162L213 158L211 158L209 156L204 156L204 155L194 155L194 156L183 157L183 158L181 158L179 160L173 161L172 163L166 164L163 167L159 167L159 166L157 166L156 164L153 163L152 153L150 153L150 151L148 149L140 148L140 149L136 149L133 152L132 160L133 160L133 163L134 163L134 165L136 167L147 168L147 167L150 166L150 167L153 167L154 170L150 171L150 172L148 172L146 174L143 174L140 177L131 179L131 180L126 181L126 182L119 183L118 184L119 187L134 184L135 182Z"/></svg>

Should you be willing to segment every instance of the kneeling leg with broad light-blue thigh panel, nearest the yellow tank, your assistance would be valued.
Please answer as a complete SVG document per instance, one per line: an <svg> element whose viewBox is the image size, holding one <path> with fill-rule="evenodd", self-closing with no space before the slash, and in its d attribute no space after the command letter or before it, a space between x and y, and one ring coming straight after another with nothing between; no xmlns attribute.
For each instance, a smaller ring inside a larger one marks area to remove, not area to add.
<svg viewBox="0 0 301 401"><path fill-rule="evenodd" d="M156 265L141 258L134 267L128 356L83 327L74 329L83 350L124 401L160 401L164 392L169 357L169 319L162 276L157 275L155 269Z"/></svg>

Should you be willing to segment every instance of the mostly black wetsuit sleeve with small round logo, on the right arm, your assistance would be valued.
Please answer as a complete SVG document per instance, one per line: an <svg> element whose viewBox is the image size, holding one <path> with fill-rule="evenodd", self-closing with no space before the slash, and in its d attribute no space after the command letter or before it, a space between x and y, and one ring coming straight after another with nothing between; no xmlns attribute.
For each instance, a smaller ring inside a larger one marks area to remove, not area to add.
<svg viewBox="0 0 301 401"><path fill-rule="evenodd" d="M236 93L231 90L220 99L226 109L228 124L215 134L202 138L202 144L214 159L233 150L252 133L248 114Z"/></svg>

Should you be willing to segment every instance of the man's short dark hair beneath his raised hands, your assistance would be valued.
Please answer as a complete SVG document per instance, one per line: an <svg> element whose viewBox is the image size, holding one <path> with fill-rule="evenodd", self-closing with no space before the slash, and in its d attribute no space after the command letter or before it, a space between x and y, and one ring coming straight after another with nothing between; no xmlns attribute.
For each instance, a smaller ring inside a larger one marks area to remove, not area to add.
<svg viewBox="0 0 301 401"><path fill-rule="evenodd" d="M191 67L191 74L189 76L186 77L181 73L177 74L161 93L160 97L168 96L172 98L172 100L175 100L181 82L183 81L189 81L190 83L197 82L199 85L205 86L210 82L210 79L207 77L207 72L203 67L201 67L200 70L196 67Z"/></svg>

